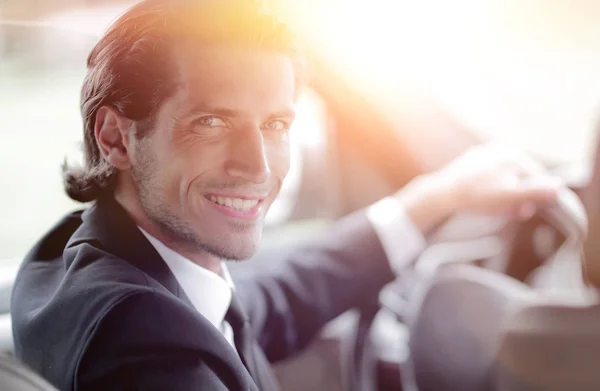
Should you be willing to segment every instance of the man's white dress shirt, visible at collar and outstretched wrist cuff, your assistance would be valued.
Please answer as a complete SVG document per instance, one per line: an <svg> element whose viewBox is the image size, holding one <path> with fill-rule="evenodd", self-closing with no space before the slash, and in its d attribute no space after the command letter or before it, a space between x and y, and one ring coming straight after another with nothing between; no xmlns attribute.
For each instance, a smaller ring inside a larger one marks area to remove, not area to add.
<svg viewBox="0 0 600 391"><path fill-rule="evenodd" d="M381 240L392 270L397 274L424 249L426 242L423 235L395 197L384 198L371 205L367 209L367 218ZM224 319L235 287L225 263L221 264L222 275L219 276L168 248L142 228L140 231L169 266L196 310L234 346L233 331Z"/></svg>

